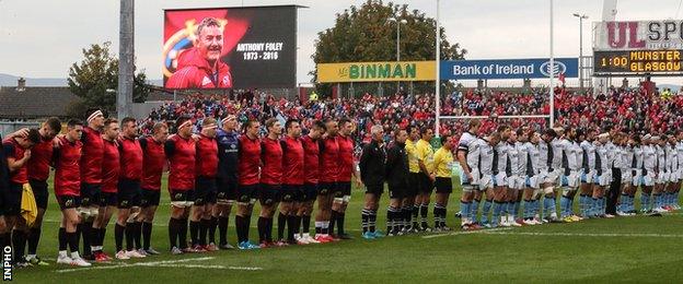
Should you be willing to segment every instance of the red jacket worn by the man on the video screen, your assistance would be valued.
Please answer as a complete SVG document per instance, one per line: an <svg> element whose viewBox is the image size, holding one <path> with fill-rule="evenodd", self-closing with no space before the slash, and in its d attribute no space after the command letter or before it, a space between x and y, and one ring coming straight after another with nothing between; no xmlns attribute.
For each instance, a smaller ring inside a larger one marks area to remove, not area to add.
<svg viewBox="0 0 683 284"><path fill-rule="evenodd" d="M190 48L178 56L177 71L166 81L169 88L231 88L230 67L218 60L213 71L197 48Z"/></svg>

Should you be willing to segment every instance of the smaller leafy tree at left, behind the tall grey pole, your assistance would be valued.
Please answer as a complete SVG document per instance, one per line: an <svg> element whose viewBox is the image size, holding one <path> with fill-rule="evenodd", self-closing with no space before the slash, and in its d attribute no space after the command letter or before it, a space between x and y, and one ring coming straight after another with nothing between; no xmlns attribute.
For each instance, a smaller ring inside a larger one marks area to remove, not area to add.
<svg viewBox="0 0 683 284"><path fill-rule="evenodd" d="M89 108L101 108L108 114L116 113L116 90L118 87L118 58L109 51L109 42L93 44L83 49L83 60L69 68L67 82L71 93L81 99L69 106L67 114L73 117L84 116ZM143 103L150 90L146 87L144 71L135 76L134 103ZM107 92L108 90L108 92Z"/></svg>

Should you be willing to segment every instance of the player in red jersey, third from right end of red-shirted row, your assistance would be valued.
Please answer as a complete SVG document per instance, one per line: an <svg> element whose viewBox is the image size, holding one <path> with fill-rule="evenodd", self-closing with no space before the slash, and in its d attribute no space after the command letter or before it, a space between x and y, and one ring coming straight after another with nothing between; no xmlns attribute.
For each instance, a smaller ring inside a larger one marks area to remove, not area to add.
<svg viewBox="0 0 683 284"><path fill-rule="evenodd" d="M309 131L309 134L301 139L301 144L303 145L303 196L300 200L299 205L299 221L301 221L301 235L298 229L300 227L297 224L294 230L294 238L299 244L317 244L310 234L309 228L311 226L311 213L313 212L313 203L317 198L317 182L320 179L320 147L319 140L325 133L325 123L323 121L316 120L313 122L313 127ZM297 237L298 236L298 237Z"/></svg>

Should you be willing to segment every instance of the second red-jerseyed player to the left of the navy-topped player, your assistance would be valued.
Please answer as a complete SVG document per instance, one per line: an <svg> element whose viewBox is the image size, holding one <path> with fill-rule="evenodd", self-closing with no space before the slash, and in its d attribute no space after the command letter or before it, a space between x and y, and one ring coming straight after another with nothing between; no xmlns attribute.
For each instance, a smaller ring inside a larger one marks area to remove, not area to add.
<svg viewBox="0 0 683 284"><path fill-rule="evenodd" d="M164 145L169 158L169 193L171 194L171 218L169 238L171 252L182 255L194 252L187 247L187 218L195 201L195 140L192 138L193 122L189 117L176 120L177 134L171 135Z"/></svg>

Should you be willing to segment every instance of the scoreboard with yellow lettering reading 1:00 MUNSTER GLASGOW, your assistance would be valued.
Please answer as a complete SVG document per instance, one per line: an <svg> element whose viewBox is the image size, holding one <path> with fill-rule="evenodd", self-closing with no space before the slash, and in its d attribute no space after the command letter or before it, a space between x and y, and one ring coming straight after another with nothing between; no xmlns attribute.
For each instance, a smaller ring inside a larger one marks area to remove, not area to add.
<svg viewBox="0 0 683 284"><path fill-rule="evenodd" d="M601 73L628 74L683 74L680 49L618 50L593 54L595 75Z"/></svg>

